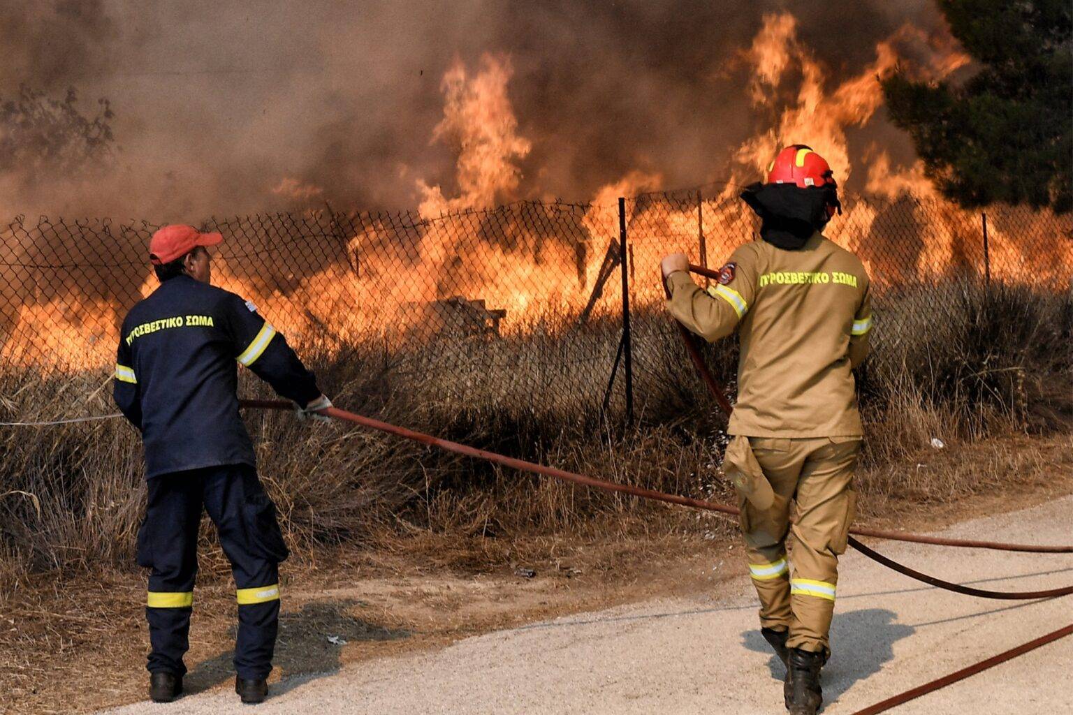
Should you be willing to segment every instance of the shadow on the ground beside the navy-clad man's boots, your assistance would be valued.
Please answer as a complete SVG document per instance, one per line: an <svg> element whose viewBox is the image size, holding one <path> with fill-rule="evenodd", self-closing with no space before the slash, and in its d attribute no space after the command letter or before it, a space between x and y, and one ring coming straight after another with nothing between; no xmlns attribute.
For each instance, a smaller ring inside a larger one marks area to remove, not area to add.
<svg viewBox="0 0 1073 715"><path fill-rule="evenodd" d="M283 682L269 689L269 697L282 695L291 688L332 675L339 671L342 645L328 641L336 636L347 642L386 641L409 638L407 630L392 630L355 619L347 611L357 601L313 601L300 611L282 613L279 619L279 638L273 665L282 671ZM232 626L234 638L236 626ZM182 681L183 690L196 694L235 677L233 651L226 651L199 662ZM292 677L306 675L306 677Z"/></svg>

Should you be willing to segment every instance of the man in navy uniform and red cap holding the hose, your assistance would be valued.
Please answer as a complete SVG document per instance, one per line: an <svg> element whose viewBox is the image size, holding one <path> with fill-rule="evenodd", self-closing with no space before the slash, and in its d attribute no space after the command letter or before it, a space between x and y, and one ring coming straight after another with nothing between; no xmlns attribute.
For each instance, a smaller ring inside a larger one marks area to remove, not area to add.
<svg viewBox="0 0 1073 715"><path fill-rule="evenodd" d="M209 284L207 248L222 238L185 225L153 234L150 260L161 285L128 313L116 359L116 404L145 445L148 507L137 562L152 569L146 619L149 689L157 702L182 691L203 507L235 579L235 690L249 703L267 694L279 620L278 565L288 549L239 417L237 366L303 411L332 405L253 303Z"/></svg>

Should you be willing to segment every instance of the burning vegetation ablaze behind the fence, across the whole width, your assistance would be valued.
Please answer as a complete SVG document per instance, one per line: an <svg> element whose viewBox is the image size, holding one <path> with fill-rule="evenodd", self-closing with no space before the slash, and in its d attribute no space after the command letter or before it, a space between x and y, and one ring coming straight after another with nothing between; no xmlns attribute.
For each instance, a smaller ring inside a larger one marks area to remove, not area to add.
<svg viewBox="0 0 1073 715"><path fill-rule="evenodd" d="M295 338L412 337L415 322L438 321L449 306L477 301L486 306L481 311L494 312L494 334L525 334L536 324L546 330L549 316L569 328L620 304L619 283L607 280L621 259L618 196L630 197L633 299L651 306L661 299L653 278L661 255L681 249L716 264L750 239L752 220L736 194L791 141L807 141L828 158L843 185L864 175L856 183L868 197L849 197L827 236L862 256L878 288L976 274L984 268L979 213L940 197L920 162L897 168L878 141L852 158L850 135L882 106L879 78L908 60L932 79L969 62L949 34L907 25L880 41L859 72L833 80L792 14L765 15L736 61L748 72L749 101L768 120L734 151L730 180L700 192L658 193L664 188L660 173L633 169L572 205L520 195L523 162L533 143L510 99L510 58L484 55L475 70L456 59L440 85L442 118L431 135L457 158L453 195L418 180L415 214L311 209L214 221L226 236L214 274ZM295 178L281 179L275 191L324 195ZM1073 266L1064 221L1001 207L989 219L987 259L996 278L1063 286ZM5 358L108 364L122 312L156 287L144 260L150 229L91 221L13 223L0 269Z"/></svg>

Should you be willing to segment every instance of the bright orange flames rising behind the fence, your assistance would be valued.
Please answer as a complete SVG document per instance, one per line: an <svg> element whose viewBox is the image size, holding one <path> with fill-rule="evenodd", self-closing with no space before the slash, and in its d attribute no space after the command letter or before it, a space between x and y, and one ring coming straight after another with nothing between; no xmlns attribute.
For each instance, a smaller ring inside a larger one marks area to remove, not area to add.
<svg viewBox="0 0 1073 715"><path fill-rule="evenodd" d="M735 184L756 180L777 150L794 143L823 154L843 185L852 173L863 172L867 192L883 199L847 202L844 215L836 217L826 232L859 253L876 285L895 284L907 274L938 279L964 264L966 255L980 255L978 248L967 248L980 244L979 213L939 198L918 163L896 168L874 145L861 152L863 166L851 163L847 131L867 123L882 106L877 76L895 68L903 47L926 59L920 72L928 78L946 77L969 61L949 35L928 36L903 27L877 44L874 60L859 73L832 83L826 68L797 36L793 15L767 15L739 60L751 72L751 103L777 119L734 152L739 168L721 195L707 197L701 206L690 197L627 202L633 299L641 304L660 300L660 257L684 250L697 259L702 232L708 263L715 266L751 238L754 219L736 198ZM630 172L600 189L585 206L515 203L486 211L518 198L518 162L532 147L518 131L508 94L511 76L509 58L485 55L475 72L456 60L443 77L443 118L431 138L457 152L456 195L418 181L417 219L356 217L359 228L339 241L346 256L326 260L321 270L288 275L285 292L245 278L238 259L227 257L244 253L235 239L214 263L215 283L251 297L291 337L328 332L343 340L387 339L427 332L429 325L450 327L453 321L459 322L459 330L472 331L468 322L484 317L497 323L499 334L516 334L532 330L533 321L548 314L565 316L568 324L575 321L598 287L601 268L607 268L605 258L609 256L612 265L619 259L617 197L660 190L663 178ZM307 199L320 195L319 188L293 178L281 179L275 191ZM896 214L884 215L894 209ZM890 225L892 215L911 215L913 225L899 235ZM1068 280L1073 266L1070 241L1040 228L1044 222L1026 228L1018 215L1027 212L1008 212L989 225L993 264L1002 267L996 274L1048 284ZM1053 260L1041 265L1037 259L1028 269L1028 255L1049 255ZM142 275L138 292L145 296L157 281L149 273ZM596 312L615 312L620 299L617 272L600 287ZM113 295L106 288L100 293ZM6 319L0 336L4 329L11 336L3 344L4 358L29 360L44 354L67 364L112 361L118 323L129 306L86 298L74 279L47 300L25 298L16 315L0 315L0 321ZM468 302L476 300L485 301L487 316L484 308ZM497 310L505 310L505 316L494 314Z"/></svg>

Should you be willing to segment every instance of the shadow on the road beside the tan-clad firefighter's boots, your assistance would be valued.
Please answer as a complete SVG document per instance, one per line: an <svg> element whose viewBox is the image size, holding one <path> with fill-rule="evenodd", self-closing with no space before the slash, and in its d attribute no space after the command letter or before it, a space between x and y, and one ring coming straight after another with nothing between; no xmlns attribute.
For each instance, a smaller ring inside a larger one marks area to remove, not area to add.
<svg viewBox="0 0 1073 715"><path fill-rule="evenodd" d="M915 628L895 623L897 613L884 608L865 608L836 613L831 626L834 654L823 669L823 699L832 703L857 681L878 673L894 658L894 643L915 632ZM767 668L780 683L785 677L782 661L760 635L760 627L741 634L741 644L754 653L769 654Z"/></svg>

